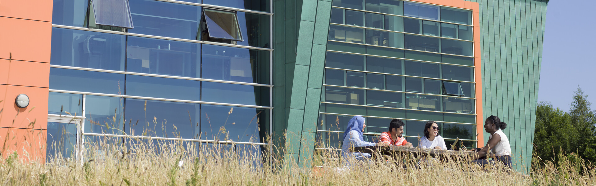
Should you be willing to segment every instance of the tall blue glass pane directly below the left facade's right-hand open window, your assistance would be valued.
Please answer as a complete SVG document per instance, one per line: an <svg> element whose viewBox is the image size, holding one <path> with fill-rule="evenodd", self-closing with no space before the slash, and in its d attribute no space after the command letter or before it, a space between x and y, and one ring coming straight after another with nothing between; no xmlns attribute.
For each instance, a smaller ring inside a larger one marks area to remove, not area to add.
<svg viewBox="0 0 596 186"><path fill-rule="evenodd" d="M203 45L203 78L269 84L269 51Z"/></svg>

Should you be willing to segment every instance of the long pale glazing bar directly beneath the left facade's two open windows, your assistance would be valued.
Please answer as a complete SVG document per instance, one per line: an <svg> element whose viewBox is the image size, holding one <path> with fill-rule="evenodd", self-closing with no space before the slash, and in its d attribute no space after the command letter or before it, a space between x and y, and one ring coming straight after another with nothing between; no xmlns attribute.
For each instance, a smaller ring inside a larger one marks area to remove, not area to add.
<svg viewBox="0 0 596 186"><path fill-rule="evenodd" d="M260 50L266 50L266 51L273 51L273 49L271 49L271 48L249 47L249 46L243 46L243 45L224 44L224 43L220 43L220 42L197 41L197 40L191 40L191 39L168 38L168 37L163 37L163 36L152 36L152 35L144 35L144 34L138 34L138 33L103 30L103 29L88 29L85 27L63 26L63 25L58 25L58 24L52 24L52 27L63 28L63 29L86 30L86 31L92 31L92 32L114 33L114 34L119 34L119 35L139 36L139 37L144 37L144 38L167 39L167 40L172 40L172 41L194 42L194 43L198 43L198 44L220 45L220 46L226 46L226 47L237 47L237 48L260 49Z"/></svg>

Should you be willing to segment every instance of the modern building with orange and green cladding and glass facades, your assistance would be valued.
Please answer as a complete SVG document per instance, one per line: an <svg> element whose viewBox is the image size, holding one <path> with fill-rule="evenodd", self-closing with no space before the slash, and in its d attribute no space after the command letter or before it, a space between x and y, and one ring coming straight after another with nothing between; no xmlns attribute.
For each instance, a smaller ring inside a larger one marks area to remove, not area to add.
<svg viewBox="0 0 596 186"><path fill-rule="evenodd" d="M456 148L485 145L496 115L527 168L547 3L2 1L3 149L75 157L132 135L278 145L313 166L356 115L367 140L398 118L417 144L433 120Z"/></svg>

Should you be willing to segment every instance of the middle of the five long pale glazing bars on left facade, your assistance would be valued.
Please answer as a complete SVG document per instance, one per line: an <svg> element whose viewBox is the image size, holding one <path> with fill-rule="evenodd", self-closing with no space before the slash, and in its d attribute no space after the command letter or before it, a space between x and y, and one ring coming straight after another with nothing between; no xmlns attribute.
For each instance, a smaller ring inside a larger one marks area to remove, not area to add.
<svg viewBox="0 0 596 186"><path fill-rule="evenodd" d="M119 73L119 74L125 74L125 75L151 76L151 77L157 77L157 78L188 79L188 80L200 80L200 81L205 81L205 82L218 82L218 83L230 83L230 84L239 84L239 85L273 87L273 85L266 85L266 84L259 84L259 83L245 83L245 82L234 82L234 81L228 81L228 80L215 80L215 79L203 79L203 78L187 78L187 77L182 77L182 76L156 75L156 74L148 74L148 73L123 72L123 71L118 71L118 70L103 70L103 69L91 69L91 68L83 68L83 67L60 66L60 65L55 65L55 64L50 64L49 67L55 67L55 68L60 68L60 69L73 69L73 70L88 70L88 71L94 71L94 72Z"/></svg>

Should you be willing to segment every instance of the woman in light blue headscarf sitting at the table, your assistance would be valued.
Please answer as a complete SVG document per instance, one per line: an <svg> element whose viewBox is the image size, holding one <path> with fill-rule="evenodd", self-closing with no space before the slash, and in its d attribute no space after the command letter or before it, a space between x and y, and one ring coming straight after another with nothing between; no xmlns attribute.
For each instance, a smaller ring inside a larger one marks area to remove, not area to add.
<svg viewBox="0 0 596 186"><path fill-rule="evenodd" d="M344 159L356 157L358 160L364 160L366 157L371 157L371 154L368 153L350 153L350 147L383 145L381 143L366 142L362 139L362 133L366 127L367 125L364 125L364 117L362 116L354 116L347 123L346 132L343 133L342 157Z"/></svg>

